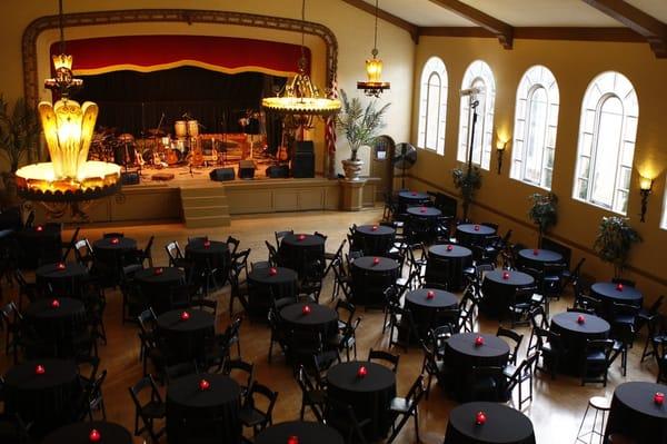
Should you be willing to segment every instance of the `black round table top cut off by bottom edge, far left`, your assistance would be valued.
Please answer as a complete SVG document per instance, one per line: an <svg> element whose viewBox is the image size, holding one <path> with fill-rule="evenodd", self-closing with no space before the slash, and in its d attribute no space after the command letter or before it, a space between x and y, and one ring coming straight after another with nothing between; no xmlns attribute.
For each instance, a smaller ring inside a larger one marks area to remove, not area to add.
<svg viewBox="0 0 667 444"><path fill-rule="evenodd" d="M101 443L104 444L132 444L132 434L120 424L106 421L82 422L66 425L49 433L42 444L90 444L90 432L100 433Z"/></svg>

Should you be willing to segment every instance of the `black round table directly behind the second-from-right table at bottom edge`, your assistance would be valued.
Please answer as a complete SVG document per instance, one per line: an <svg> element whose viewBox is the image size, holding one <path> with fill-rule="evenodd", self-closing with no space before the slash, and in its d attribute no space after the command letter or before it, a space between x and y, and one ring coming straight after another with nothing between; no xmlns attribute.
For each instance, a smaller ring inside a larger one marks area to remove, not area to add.
<svg viewBox="0 0 667 444"><path fill-rule="evenodd" d="M484 338L484 345L476 345L478 336ZM445 365L449 369L447 384L457 399L469 401L466 398L472 367L505 366L509 356L509 345L495 335L459 333L447 339L445 356Z"/></svg>

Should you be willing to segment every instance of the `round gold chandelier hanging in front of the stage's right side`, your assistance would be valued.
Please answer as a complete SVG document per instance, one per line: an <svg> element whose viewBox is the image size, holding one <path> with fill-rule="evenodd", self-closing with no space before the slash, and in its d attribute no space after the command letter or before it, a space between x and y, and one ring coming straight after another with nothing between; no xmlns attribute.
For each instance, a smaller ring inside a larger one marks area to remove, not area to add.
<svg viewBox="0 0 667 444"><path fill-rule="evenodd" d="M268 111L297 117L301 126L309 127L313 116L327 117L340 111L341 102L321 96L320 89L306 73L305 55L306 0L301 2L301 57L298 72L276 97L262 99Z"/></svg>

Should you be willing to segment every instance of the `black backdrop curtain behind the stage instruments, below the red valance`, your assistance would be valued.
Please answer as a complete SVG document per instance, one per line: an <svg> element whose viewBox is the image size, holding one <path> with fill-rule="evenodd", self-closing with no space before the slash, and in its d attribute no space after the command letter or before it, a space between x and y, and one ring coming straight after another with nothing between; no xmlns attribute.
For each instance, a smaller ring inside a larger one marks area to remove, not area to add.
<svg viewBox="0 0 667 444"><path fill-rule="evenodd" d="M261 72L226 75L197 67L121 70L81 78L83 88L74 98L99 105L98 127L135 136L157 128L162 114L161 128L171 135L175 121L190 119L199 121L200 132L242 132L238 120L247 110L258 111L262 97L276 95L286 82L285 77ZM268 116L270 148L280 144L280 120Z"/></svg>

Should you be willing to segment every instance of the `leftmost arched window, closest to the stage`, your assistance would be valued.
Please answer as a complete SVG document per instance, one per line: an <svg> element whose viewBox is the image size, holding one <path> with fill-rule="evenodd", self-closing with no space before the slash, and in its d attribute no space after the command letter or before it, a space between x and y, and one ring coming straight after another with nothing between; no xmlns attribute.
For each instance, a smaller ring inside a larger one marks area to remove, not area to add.
<svg viewBox="0 0 667 444"><path fill-rule="evenodd" d="M439 57L428 59L421 70L417 146L439 155L445 154L447 82L445 62Z"/></svg>

